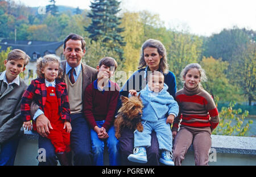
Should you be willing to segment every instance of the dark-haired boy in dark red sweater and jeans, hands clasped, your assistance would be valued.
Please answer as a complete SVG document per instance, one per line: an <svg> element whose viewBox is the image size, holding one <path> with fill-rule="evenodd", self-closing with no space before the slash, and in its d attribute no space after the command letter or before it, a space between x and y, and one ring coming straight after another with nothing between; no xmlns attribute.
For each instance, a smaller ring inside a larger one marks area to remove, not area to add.
<svg viewBox="0 0 256 177"><path fill-rule="evenodd" d="M119 141L115 138L114 114L119 87L110 81L117 69L112 57L104 57L97 66L97 79L85 90L84 114L90 127L94 165L104 165L104 142L108 146L109 165L120 165Z"/></svg>

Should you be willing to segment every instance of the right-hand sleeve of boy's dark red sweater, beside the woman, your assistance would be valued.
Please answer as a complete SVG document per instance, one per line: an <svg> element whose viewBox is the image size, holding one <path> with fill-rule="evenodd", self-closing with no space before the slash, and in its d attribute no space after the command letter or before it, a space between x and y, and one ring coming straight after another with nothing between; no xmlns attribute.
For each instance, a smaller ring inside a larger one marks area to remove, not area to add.
<svg viewBox="0 0 256 177"><path fill-rule="evenodd" d="M110 126L113 124L115 109L117 108L117 101L119 96L119 87L117 83L114 83L114 84L116 89L114 91L111 91L113 94L109 101L108 114L106 116L105 123L102 125L102 127L104 127L107 131L109 130Z"/></svg>

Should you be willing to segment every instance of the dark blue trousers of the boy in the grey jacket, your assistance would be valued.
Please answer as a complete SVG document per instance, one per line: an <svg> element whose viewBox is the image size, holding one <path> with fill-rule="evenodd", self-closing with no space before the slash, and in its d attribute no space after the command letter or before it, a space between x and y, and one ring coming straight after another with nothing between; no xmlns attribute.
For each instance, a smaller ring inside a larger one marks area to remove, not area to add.
<svg viewBox="0 0 256 177"><path fill-rule="evenodd" d="M1 144L0 151L0 166L13 166L16 156L16 151L18 149L19 137L14 136Z"/></svg>

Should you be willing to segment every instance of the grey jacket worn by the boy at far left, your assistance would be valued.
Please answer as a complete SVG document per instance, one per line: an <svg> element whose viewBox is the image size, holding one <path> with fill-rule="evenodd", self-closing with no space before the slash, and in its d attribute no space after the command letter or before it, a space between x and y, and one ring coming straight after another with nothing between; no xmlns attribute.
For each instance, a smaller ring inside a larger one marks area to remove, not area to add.
<svg viewBox="0 0 256 177"><path fill-rule="evenodd" d="M19 82L19 86L11 85L0 95L0 144L18 133L23 124L20 117L20 103L27 85L21 78ZM0 81L0 91L3 84L5 83Z"/></svg>

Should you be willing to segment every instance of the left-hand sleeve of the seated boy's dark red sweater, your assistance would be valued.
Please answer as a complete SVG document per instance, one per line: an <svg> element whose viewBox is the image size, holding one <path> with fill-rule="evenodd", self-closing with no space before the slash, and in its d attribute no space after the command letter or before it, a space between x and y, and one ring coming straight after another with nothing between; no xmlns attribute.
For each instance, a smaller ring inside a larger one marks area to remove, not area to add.
<svg viewBox="0 0 256 177"><path fill-rule="evenodd" d="M92 129L97 126L93 116L93 83L86 87L84 94L84 115Z"/></svg>

